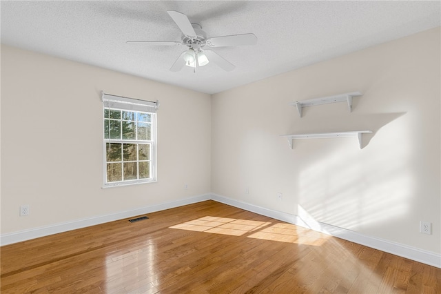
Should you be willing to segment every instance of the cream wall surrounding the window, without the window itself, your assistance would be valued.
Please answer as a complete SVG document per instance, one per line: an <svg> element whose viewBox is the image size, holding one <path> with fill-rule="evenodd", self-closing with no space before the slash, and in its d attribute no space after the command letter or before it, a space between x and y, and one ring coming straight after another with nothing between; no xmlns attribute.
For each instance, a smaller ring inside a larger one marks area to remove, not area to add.
<svg viewBox="0 0 441 294"><path fill-rule="evenodd" d="M101 90L160 101L157 183L101 188ZM209 98L1 46L1 233L209 193ZM19 217L24 204L30 205L30 215Z"/></svg>

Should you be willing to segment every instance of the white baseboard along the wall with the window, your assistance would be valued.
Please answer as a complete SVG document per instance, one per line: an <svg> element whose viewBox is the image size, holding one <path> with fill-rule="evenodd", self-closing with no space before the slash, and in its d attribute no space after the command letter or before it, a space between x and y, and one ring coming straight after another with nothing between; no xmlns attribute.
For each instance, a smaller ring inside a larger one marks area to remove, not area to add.
<svg viewBox="0 0 441 294"><path fill-rule="evenodd" d="M147 213L154 213L155 211L165 210L169 208L175 208L184 206L187 204L193 204L196 202L203 202L211 199L211 195L198 195L187 199L180 199L174 202L167 202L162 204L156 204L152 206L145 206L142 208L136 208L133 210L121 211L111 215L100 215L97 217L88 217L86 219L78 219L72 222L63 222L60 224L54 224L51 226L42 226L39 228L31 228L29 230L17 231L14 233L6 233L0 235L0 246L22 242L30 239L53 235L57 233L63 233L67 231L76 230L77 228L85 228L87 226L94 226L96 224L103 224L105 222L113 222L119 219L125 219L127 217L135 217L137 215L145 215Z"/></svg>

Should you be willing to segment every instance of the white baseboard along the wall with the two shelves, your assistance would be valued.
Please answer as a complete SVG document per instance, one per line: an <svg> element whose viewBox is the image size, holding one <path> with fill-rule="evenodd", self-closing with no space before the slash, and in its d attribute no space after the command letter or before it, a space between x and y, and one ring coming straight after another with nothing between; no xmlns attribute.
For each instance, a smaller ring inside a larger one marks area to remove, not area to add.
<svg viewBox="0 0 441 294"><path fill-rule="evenodd" d="M421 262L423 264L429 264L430 266L441 268L441 255L437 253L424 251L419 248L391 242L385 239L362 235L346 228L339 228L337 226L315 222L311 219L302 219L298 215L290 215L289 213L283 213L280 211L255 206L253 204L240 202L238 200L223 197L221 195L216 195L213 193L212 199L223 204L228 204L237 208L252 211L253 213L265 215L267 217L278 219L283 222L289 222L290 224L296 224L298 226L310 228L320 233L339 237L340 239L345 239L347 241L354 242L363 246L375 248L380 251L391 253L393 255L398 255L404 258L415 260L416 262Z"/></svg>

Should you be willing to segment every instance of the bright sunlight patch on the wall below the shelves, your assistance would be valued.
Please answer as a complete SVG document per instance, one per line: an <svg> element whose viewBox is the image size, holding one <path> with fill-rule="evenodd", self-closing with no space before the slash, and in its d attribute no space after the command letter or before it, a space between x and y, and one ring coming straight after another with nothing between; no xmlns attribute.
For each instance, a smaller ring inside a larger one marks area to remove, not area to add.
<svg viewBox="0 0 441 294"><path fill-rule="evenodd" d="M376 149L372 143L364 150L338 146L318 156L300 173L298 213L349 229L380 226L408 213L416 190L411 142L405 131L397 132L376 134ZM391 148L391 141L400 148Z"/></svg>

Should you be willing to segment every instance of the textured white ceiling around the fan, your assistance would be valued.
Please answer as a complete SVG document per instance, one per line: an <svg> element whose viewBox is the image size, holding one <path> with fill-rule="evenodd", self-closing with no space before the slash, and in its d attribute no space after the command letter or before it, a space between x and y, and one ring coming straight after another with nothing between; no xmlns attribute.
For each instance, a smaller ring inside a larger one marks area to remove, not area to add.
<svg viewBox="0 0 441 294"><path fill-rule="evenodd" d="M1 1L1 43L213 94L440 26L440 1ZM216 64L170 72L185 46L167 14L208 37L252 32L256 46L214 48Z"/></svg>

